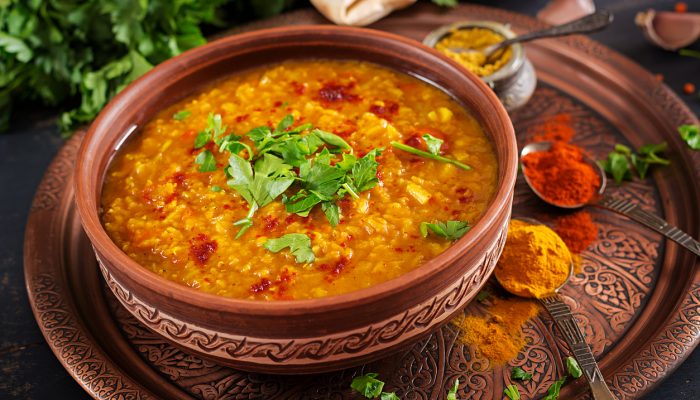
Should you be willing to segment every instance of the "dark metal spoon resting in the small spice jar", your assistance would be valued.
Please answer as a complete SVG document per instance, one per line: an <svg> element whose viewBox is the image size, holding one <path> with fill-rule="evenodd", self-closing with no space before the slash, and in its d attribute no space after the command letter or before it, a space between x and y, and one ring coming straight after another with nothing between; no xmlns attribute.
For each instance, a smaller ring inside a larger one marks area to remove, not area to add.
<svg viewBox="0 0 700 400"><path fill-rule="evenodd" d="M542 39L548 37L559 37L572 35L575 33L591 33L599 31L606 26L608 26L613 20L613 15L607 10L599 10L593 14L586 15L583 18L567 22L562 25L553 26L551 28L542 29L535 32L529 32L516 36L512 39L506 39L502 42L492 44L490 46L481 49L469 49L462 47L454 47L449 50L455 53L483 53L486 56L486 61L491 59L496 51L499 49L510 46L515 43L529 42L535 39Z"/></svg>

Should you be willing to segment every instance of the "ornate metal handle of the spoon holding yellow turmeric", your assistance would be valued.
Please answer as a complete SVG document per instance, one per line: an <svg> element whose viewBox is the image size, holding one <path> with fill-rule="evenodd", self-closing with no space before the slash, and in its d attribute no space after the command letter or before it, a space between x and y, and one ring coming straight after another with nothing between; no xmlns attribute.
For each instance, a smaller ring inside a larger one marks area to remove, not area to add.
<svg viewBox="0 0 700 400"><path fill-rule="evenodd" d="M610 393L610 389L605 383L591 348L588 347L586 338L583 336L569 306L564 303L558 294L544 297L540 299L540 302L554 319L557 327L559 327L559 331L564 336L564 340L566 340L566 344L569 345L569 350L574 354L576 362L578 362L583 375L588 381L593 398L595 400L615 399L615 396Z"/></svg>

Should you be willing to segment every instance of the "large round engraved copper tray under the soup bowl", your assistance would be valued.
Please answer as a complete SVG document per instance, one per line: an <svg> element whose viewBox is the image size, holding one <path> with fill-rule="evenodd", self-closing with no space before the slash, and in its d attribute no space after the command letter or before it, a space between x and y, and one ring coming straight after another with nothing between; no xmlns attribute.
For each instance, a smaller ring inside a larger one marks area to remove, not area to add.
<svg viewBox="0 0 700 400"><path fill-rule="evenodd" d="M422 39L435 27L463 19L489 19L514 30L542 23L478 6L444 12L419 4L374 27ZM325 23L311 10L250 25ZM673 163L645 181L609 189L663 215L698 237L700 154L675 132L697 119L666 86L640 66L583 37L533 43L528 56L540 85L525 109L512 115L521 142L549 115L573 115L575 141L602 158L614 143L637 147L669 142ZM491 368L456 342L446 326L411 348L365 366L314 376L246 373L203 361L172 347L141 326L105 290L73 206L72 165L82 132L49 166L32 204L25 237L27 290L39 326L66 370L96 399L342 399L352 376L378 372L402 399L443 398L455 378L459 398L500 399L509 367ZM695 182L695 183L694 183ZM516 214L556 215L516 186ZM584 268L563 290L618 398L638 398L669 375L700 341L700 265L689 252L622 217L591 210L601 230L584 253ZM479 312L472 304L468 312ZM546 316L526 326L532 338L512 365L534 371L520 385L524 398L546 392L565 373L566 345ZM586 398L579 380L561 398Z"/></svg>

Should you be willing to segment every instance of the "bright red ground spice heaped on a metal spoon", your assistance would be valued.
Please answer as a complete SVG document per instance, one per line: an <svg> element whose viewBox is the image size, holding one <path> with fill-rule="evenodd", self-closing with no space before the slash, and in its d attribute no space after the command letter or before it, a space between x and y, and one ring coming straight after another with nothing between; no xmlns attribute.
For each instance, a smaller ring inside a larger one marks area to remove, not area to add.
<svg viewBox="0 0 700 400"><path fill-rule="evenodd" d="M583 149L572 144L552 142L549 150L524 156L522 164L532 186L555 204L586 203L600 187L600 177L583 160Z"/></svg>

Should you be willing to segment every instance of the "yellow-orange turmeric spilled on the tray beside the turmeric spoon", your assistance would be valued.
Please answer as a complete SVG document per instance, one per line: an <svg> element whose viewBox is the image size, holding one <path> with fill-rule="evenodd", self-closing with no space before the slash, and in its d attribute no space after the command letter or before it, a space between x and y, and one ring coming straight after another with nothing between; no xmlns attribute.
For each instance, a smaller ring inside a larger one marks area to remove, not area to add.
<svg viewBox="0 0 700 400"><path fill-rule="evenodd" d="M453 323L462 331L460 341L468 344L492 364L514 359L525 346L522 326L539 312L528 299L495 299L485 316L467 315Z"/></svg>

